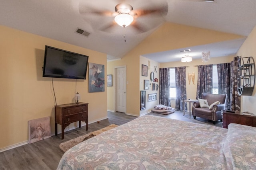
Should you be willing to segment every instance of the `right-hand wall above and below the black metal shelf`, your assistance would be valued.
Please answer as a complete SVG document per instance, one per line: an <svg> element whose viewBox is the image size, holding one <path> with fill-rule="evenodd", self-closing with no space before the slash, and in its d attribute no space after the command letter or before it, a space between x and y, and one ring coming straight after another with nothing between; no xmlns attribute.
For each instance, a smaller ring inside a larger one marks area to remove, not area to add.
<svg viewBox="0 0 256 170"><path fill-rule="evenodd" d="M241 57L253 57L254 62L256 62L256 26L244 41L243 45L240 47L237 55ZM254 87L252 96L241 96L241 111L250 111L256 113L256 90Z"/></svg>

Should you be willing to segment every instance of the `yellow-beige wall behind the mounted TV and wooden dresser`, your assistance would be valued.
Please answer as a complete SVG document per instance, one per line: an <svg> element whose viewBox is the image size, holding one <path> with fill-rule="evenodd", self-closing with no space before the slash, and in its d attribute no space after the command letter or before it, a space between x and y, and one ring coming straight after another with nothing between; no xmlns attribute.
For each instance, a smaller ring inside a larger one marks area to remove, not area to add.
<svg viewBox="0 0 256 170"><path fill-rule="evenodd" d="M88 55L90 63L104 64L105 68L107 61L106 54L4 26L0 26L0 37L1 150L26 143L28 121L32 119L50 116L54 135L52 78L42 77L45 45ZM74 79L53 78L53 82L57 104L73 103L77 90L81 94L80 101L89 103L89 122L107 117L107 89L88 93L88 72L86 80L77 80L77 86ZM72 123L66 129L77 124ZM60 126L58 130L60 132Z"/></svg>

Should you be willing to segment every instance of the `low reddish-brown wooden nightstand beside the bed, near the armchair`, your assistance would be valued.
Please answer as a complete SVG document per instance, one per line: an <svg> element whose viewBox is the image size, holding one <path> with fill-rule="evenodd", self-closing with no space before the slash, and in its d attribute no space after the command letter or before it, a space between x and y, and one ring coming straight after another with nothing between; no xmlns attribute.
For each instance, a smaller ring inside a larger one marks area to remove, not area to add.
<svg viewBox="0 0 256 170"><path fill-rule="evenodd" d="M244 114L250 114L250 115L244 115ZM223 111L222 113L222 127L228 128L228 125L230 123L237 123L240 125L248 125L256 127L256 115L253 113L243 113L240 111L228 112Z"/></svg>

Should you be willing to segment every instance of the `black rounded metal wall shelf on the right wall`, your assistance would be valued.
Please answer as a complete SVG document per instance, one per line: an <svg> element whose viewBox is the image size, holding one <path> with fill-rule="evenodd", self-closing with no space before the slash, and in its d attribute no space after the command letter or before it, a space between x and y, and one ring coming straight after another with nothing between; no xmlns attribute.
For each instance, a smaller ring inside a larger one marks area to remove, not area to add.
<svg viewBox="0 0 256 170"><path fill-rule="evenodd" d="M253 57L238 60L237 88L240 96L252 96L255 83L255 65Z"/></svg>

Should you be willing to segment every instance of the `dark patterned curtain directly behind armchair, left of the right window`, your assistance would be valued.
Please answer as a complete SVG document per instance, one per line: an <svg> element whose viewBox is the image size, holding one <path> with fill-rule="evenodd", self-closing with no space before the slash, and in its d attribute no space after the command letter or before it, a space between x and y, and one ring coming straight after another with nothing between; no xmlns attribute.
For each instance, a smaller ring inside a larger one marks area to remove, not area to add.
<svg viewBox="0 0 256 170"><path fill-rule="evenodd" d="M212 64L198 66L196 99L201 98L203 92L212 93Z"/></svg>

